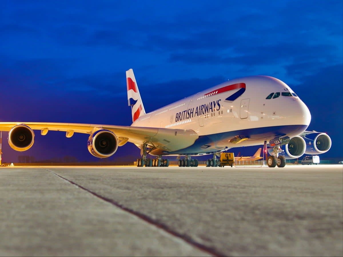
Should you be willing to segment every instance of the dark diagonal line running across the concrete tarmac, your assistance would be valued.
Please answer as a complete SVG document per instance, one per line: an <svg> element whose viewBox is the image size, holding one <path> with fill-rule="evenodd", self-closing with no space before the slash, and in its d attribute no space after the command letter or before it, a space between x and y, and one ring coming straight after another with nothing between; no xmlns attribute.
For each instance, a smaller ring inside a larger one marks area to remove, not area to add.
<svg viewBox="0 0 343 257"><path fill-rule="evenodd" d="M99 194L97 194L97 193L91 191L91 190L88 189L88 188L85 188L85 187L83 187L83 186L81 186L81 185L79 185L79 184L77 184L77 183L75 183L75 182L73 182L73 181L71 181L71 180L69 180L69 179L66 179L66 178L62 177L61 175L56 174L55 172L53 172L53 171L51 171L51 170L48 170L48 169L46 169L46 170L49 171L50 173L54 174L54 175L57 176L58 178L63 179L63 180L65 180L65 181L69 182L70 184L75 185L75 186L77 186L77 187L83 189L84 191L86 191L86 192L88 192L88 193L94 195L95 197L97 197L97 198L99 198L99 199L101 199L101 200L104 200L104 201L106 201L107 203L110 203L110 204L112 204L112 205L114 205L114 206L120 208L120 209L123 210L123 211L129 212L130 214L132 214L132 215L134 215L134 216L140 218L141 220L144 220L145 222L147 222L147 223L149 223L149 224L151 224L151 225L154 225L156 228L162 229L162 230L165 231L166 233L171 234L171 235L173 235L173 236L175 236L175 237L178 237L178 238L180 238L181 240L184 240L186 243L188 243L188 244L190 244L190 245L192 245L192 246L194 246L194 247L196 247L196 248L202 250L203 252L206 252L206 253L208 253L208 254L211 254L211 255L213 255L213 256L218 256L218 257L220 257L220 256L227 256L227 255L225 255L225 254L223 254L223 253L218 252L216 249L214 249L214 248L212 248L212 247L209 247L209 246L206 246L206 245L203 245L203 244L201 244L201 243L198 243L198 242L194 241L194 240L193 240L190 236L188 236L188 235L183 235L183 234L180 234L180 233L178 233L178 232L176 232L176 231L170 229L167 225L165 225L165 224L163 224L163 223L159 223L159 222L153 220L152 218L150 218L149 216L146 216L146 215L143 214L143 213L140 213L140 212L138 212L138 211L134 211L134 210L129 209L129 208L127 208L127 207L125 207L125 206L123 206L123 205L121 205L121 204L118 204L118 203L116 203L113 199L110 199L110 198L101 196L101 195L99 195Z"/></svg>

